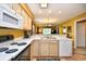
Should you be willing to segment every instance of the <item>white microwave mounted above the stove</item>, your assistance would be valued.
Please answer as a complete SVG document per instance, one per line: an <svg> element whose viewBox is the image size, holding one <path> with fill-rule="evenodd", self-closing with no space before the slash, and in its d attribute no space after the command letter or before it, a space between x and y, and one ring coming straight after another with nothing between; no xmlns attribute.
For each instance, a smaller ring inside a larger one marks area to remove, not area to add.
<svg viewBox="0 0 86 64"><path fill-rule="evenodd" d="M11 11L12 10L7 10L0 7L0 26L10 28L21 28L21 15L12 13Z"/></svg>

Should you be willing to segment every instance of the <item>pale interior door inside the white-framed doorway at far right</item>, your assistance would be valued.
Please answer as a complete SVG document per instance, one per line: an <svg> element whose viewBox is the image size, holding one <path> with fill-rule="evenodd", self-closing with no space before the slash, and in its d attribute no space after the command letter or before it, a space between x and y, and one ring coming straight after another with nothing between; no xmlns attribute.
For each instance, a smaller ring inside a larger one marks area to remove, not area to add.
<svg viewBox="0 0 86 64"><path fill-rule="evenodd" d="M85 48L85 23L77 23L77 47Z"/></svg>

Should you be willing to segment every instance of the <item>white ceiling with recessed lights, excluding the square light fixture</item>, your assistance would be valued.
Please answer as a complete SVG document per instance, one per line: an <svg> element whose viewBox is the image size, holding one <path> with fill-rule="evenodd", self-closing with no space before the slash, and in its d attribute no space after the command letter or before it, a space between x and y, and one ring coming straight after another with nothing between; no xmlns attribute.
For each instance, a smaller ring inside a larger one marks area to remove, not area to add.
<svg viewBox="0 0 86 64"><path fill-rule="evenodd" d="M47 23L58 25L86 12L86 3L48 3L47 9L41 9L39 3L27 5L35 15L35 24L39 26L45 26Z"/></svg>

